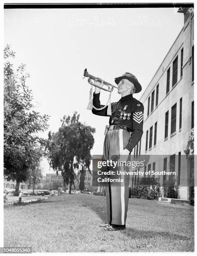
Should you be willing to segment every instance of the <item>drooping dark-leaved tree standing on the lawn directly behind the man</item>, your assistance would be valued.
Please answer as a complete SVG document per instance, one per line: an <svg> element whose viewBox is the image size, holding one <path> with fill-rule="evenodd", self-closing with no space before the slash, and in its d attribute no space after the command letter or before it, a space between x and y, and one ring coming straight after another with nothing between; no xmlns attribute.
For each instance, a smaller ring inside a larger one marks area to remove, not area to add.
<svg viewBox="0 0 197 256"><path fill-rule="evenodd" d="M64 116L62 126L56 133L49 133L48 159L50 166L57 173L62 172L64 187L74 185L76 178L75 169L80 169L84 175L85 169L90 170L92 156L90 150L94 144L93 133L95 128L82 124L77 112L70 116Z"/></svg>

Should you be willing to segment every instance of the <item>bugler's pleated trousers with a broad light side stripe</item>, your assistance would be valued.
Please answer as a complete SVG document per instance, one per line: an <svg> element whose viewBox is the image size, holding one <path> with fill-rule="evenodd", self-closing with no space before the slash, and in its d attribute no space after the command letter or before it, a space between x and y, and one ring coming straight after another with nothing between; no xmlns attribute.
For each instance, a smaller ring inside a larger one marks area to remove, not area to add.
<svg viewBox="0 0 197 256"><path fill-rule="evenodd" d="M105 135L103 156L105 160L111 160L127 146L130 133L126 130L109 130ZM119 167L124 171L123 166ZM115 225L125 225L129 200L129 179L125 175L118 176L123 179L118 187L111 186L110 182L105 186L107 200L107 221ZM110 176L110 178L114 178Z"/></svg>

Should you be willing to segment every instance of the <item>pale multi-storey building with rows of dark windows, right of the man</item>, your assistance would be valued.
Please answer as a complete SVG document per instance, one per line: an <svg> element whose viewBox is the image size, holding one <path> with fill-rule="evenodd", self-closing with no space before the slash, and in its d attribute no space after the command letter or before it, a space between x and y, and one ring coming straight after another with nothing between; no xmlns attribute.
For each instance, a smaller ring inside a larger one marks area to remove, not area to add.
<svg viewBox="0 0 197 256"><path fill-rule="evenodd" d="M180 8L178 13L184 13L184 26L140 98L144 133L134 155L152 156L144 170L163 171L169 163L174 165L178 198L189 199L194 174L194 12ZM187 161L182 161L185 154ZM159 161L154 161L156 155ZM161 187L164 179L160 177Z"/></svg>

